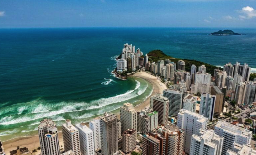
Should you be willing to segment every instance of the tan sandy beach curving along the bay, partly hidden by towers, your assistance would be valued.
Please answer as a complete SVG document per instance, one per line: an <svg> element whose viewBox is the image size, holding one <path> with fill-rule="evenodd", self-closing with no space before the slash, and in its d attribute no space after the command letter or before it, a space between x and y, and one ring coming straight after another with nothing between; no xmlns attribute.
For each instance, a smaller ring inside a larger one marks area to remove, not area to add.
<svg viewBox="0 0 256 155"><path fill-rule="evenodd" d="M154 95L155 93L162 93L164 89L166 89L166 86L159 81L159 79L149 73L146 72L138 72L135 73L129 77L136 77L136 78L142 78L146 80L147 82L151 83L153 85L153 92L151 95ZM149 106L150 104L150 97L148 97L144 102L141 104L138 104L135 109L136 111L140 111L146 106ZM117 117L120 119L120 115L117 114ZM59 136L59 143L63 146L63 139L62 139L62 132L58 133ZM40 146L39 143L39 137L38 136L30 136L30 137L19 137L11 140L7 140L3 142L3 147L5 149L6 155L9 155L11 150L14 150L17 148L17 146L20 147L27 147L29 151L32 152L33 149L37 149L38 146ZM39 150L36 155L40 154Z"/></svg>

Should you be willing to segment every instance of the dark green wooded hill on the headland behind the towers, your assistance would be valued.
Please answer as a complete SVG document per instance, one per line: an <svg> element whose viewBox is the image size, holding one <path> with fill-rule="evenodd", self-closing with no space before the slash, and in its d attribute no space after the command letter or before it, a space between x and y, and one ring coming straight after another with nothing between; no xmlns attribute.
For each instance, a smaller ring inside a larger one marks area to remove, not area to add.
<svg viewBox="0 0 256 155"><path fill-rule="evenodd" d="M180 58L173 58L171 56L168 56L166 55L163 51L161 50L153 50L153 51L150 51L148 54L148 57L149 57L149 61L151 62L155 62L157 63L158 60L165 60L165 59L169 59L171 61L173 61L174 63L177 63L179 60L183 60L185 62L185 70L187 72L190 72L191 71L191 65L192 64L195 64L196 67L199 67L201 66L202 64L205 65L206 67L206 72L207 73L211 73L211 75L213 75L214 73L214 69L220 69L222 70L222 68L218 68L214 65L211 65L211 64L207 64L207 63L204 63L204 62L201 62L201 61L197 61L197 60L189 60L189 59L180 59Z"/></svg>

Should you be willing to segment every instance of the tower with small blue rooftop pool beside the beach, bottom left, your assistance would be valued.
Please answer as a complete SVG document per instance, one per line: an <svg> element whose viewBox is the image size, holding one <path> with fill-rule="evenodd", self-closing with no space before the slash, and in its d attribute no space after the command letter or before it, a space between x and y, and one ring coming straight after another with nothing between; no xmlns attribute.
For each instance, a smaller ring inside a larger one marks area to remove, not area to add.
<svg viewBox="0 0 256 155"><path fill-rule="evenodd" d="M38 126L42 155L60 155L58 129L52 119L44 119Z"/></svg>

